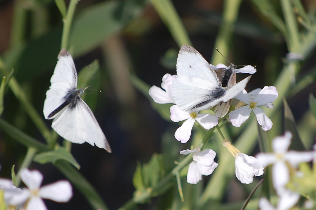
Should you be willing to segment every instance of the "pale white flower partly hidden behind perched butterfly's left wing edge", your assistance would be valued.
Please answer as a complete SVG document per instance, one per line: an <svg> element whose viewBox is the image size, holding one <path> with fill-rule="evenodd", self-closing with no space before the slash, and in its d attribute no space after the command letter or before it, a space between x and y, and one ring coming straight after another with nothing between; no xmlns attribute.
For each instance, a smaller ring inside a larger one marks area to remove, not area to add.
<svg viewBox="0 0 316 210"><path fill-rule="evenodd" d="M175 104L171 94L171 85L173 80L175 80L177 77L178 75L170 74L165 74L162 77L161 87L165 91L155 85L149 88L149 95L157 104Z"/></svg>

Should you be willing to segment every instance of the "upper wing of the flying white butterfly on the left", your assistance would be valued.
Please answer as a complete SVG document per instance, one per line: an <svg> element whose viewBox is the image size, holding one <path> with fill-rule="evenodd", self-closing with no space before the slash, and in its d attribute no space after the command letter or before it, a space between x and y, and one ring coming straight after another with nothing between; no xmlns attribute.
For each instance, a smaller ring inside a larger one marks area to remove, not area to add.
<svg viewBox="0 0 316 210"><path fill-rule="evenodd" d="M77 72L74 61L69 52L64 49L58 55L54 73L51 78L51 86L46 92L44 101L43 113L46 119L52 111L57 109L65 101L64 97L69 93L69 90L77 87Z"/></svg>

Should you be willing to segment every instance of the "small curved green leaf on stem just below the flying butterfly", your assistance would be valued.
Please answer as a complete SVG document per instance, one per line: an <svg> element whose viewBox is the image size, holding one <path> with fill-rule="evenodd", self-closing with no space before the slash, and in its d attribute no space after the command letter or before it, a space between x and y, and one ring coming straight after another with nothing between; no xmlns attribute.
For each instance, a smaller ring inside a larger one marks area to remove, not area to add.
<svg viewBox="0 0 316 210"><path fill-rule="evenodd" d="M55 163L57 160L66 160L67 162L75 166L78 170L80 169L79 163L64 147L59 147L58 149L53 151L42 152L35 155L34 157L34 161L40 164Z"/></svg>

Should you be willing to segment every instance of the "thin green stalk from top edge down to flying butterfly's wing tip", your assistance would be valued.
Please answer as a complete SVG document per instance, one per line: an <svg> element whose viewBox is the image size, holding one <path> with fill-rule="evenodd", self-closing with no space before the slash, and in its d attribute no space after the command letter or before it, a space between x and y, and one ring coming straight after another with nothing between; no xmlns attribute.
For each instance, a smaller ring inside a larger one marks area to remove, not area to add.
<svg viewBox="0 0 316 210"><path fill-rule="evenodd" d="M70 27L72 23L72 19L75 14L76 6L77 6L78 0L71 0L69 3L69 7L67 10L66 18L64 21L64 27L63 27L63 34L61 38L61 49L66 49L68 47L68 40L69 40L69 33L70 33Z"/></svg>

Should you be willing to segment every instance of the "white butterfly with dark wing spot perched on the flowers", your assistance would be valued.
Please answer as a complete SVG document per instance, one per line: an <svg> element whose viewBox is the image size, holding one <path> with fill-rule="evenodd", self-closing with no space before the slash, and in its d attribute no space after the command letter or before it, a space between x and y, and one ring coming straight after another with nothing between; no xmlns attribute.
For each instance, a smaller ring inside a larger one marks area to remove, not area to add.
<svg viewBox="0 0 316 210"><path fill-rule="evenodd" d="M227 102L246 87L251 77L248 76L232 87L222 87L211 65L188 45L183 45L179 51L177 75L178 78L172 83L172 96L183 111L205 110L220 102Z"/></svg>

